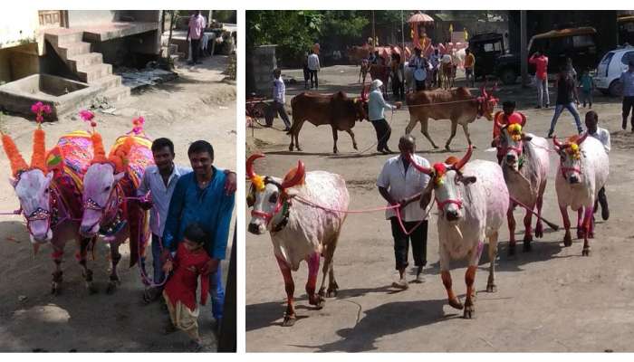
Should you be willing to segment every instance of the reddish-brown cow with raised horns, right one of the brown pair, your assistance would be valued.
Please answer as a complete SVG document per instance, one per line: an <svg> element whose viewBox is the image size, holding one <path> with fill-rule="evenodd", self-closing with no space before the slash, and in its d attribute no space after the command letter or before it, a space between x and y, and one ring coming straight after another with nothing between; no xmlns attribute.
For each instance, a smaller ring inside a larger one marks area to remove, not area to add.
<svg viewBox="0 0 634 362"><path fill-rule="evenodd" d="M405 133L411 132L420 121L420 131L431 142L431 146L438 148L427 133L428 119L450 119L451 136L447 139L445 148L449 150L451 140L456 136L458 124L465 131L466 140L472 145L469 138L469 123L485 116L488 120L493 120L493 110L497 100L493 94L481 89L482 96L474 97L465 87L455 90L420 90L410 92L406 96L409 110L409 124Z"/></svg>

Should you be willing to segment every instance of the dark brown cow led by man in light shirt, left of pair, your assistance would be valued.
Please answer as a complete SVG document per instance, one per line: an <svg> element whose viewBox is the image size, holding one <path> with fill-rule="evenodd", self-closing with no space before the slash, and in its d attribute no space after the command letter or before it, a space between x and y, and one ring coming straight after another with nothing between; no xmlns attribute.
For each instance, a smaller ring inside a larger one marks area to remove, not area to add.
<svg viewBox="0 0 634 362"><path fill-rule="evenodd" d="M332 138L334 140L334 148L332 151L337 153L337 131L346 131L352 138L352 147L357 148L357 141L354 139L352 128L354 122L359 119L368 119L366 110L363 105L365 97L349 98L346 93L338 91L334 94L321 94L314 92L303 92L291 100L293 109L293 125L288 132L291 135L291 145L289 151L293 151L294 146L301 151L299 134L302 129L303 122L308 120L315 126L331 125Z"/></svg>

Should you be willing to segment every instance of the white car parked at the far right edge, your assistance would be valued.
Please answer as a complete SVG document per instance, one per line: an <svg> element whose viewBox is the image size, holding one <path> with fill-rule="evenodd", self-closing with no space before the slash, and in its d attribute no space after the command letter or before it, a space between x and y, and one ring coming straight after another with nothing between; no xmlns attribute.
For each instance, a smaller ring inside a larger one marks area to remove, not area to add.
<svg viewBox="0 0 634 362"><path fill-rule="evenodd" d="M594 87L603 94L620 97L623 87L620 73L628 70L627 60L634 60L634 47L626 47L607 52L597 66Z"/></svg>

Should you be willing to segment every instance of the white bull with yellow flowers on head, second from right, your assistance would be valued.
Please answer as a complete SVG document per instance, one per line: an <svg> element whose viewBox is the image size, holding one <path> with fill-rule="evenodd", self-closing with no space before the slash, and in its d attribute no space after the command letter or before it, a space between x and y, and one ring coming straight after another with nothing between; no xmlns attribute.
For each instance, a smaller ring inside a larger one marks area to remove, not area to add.
<svg viewBox="0 0 634 362"><path fill-rule="evenodd" d="M546 180L550 168L548 157L548 141L546 138L525 134L518 123L502 125L495 120L495 127L500 129L500 138L497 143L498 155L502 155L502 172L508 187L508 192L514 200L528 206L524 215L524 251L531 250L533 241L532 221L533 213L537 210L537 224L535 224L535 236L543 236L543 224L541 220L543 206L543 192L546 189ZM515 218L513 201L508 209L508 230L511 237L508 253L515 252Z"/></svg>

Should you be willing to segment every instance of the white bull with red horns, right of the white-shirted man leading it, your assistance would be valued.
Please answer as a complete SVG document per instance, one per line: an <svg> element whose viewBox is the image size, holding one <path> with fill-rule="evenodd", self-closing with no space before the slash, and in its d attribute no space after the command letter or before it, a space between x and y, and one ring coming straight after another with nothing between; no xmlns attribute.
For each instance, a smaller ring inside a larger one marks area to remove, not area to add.
<svg viewBox="0 0 634 362"><path fill-rule="evenodd" d="M489 278L486 291L496 291L495 257L499 229L508 210L509 195L502 169L494 162L475 160L467 163L472 148L466 156L456 162L437 163L433 167L422 167L411 160L412 165L431 176L427 188L420 198L426 208L435 193L438 208L437 228L440 253L440 272L447 289L449 305L458 310L465 309L464 317L474 316L474 281L485 239L489 240ZM466 269L466 300L460 302L452 289L449 263L451 260L469 262Z"/></svg>

